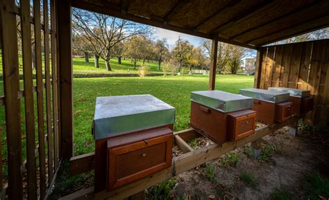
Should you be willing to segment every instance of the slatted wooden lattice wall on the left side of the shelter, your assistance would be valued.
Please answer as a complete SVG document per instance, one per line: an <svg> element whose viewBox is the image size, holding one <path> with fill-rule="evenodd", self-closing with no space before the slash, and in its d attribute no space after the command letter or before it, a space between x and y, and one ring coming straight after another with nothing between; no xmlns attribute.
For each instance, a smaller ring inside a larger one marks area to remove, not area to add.
<svg viewBox="0 0 329 200"><path fill-rule="evenodd" d="M6 127L0 127L0 144L6 147L5 153L0 151L0 199L7 195L8 199L44 199L61 159L56 2L34 0L32 13L31 6L29 1L18 6L15 0L0 1L4 86L0 107L6 116ZM12 26L17 22L18 30Z"/></svg>

